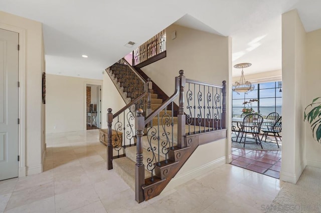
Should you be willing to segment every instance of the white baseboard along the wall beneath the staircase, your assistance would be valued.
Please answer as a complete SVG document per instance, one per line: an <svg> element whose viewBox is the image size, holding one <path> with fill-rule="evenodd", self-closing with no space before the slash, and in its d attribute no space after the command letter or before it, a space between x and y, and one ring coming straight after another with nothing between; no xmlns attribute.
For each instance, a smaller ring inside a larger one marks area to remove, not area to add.
<svg viewBox="0 0 321 213"><path fill-rule="evenodd" d="M232 157L232 156L231 156ZM177 175L175 176L170 182L169 184L166 186L166 188L162 191L163 192L166 192L168 190L171 190L173 189L173 187L176 187L178 185L181 185L191 179L194 179L200 175L203 175L205 174L206 172L208 171L211 171L213 170L214 168L220 166L220 165L223 165L225 164L226 162L226 157L223 156L223 157L220 157L216 160L213 160L211 162L208 162L202 166L199 166L199 167L196 167L186 173L183 173L181 175Z"/></svg>

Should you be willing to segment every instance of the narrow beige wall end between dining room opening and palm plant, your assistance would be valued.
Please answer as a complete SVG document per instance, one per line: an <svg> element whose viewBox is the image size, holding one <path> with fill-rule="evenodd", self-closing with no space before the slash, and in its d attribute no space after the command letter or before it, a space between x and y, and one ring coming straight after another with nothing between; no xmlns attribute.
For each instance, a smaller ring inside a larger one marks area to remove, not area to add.
<svg viewBox="0 0 321 213"><path fill-rule="evenodd" d="M296 10L282 14L282 166L280 179L295 183L305 167L305 30Z"/></svg>

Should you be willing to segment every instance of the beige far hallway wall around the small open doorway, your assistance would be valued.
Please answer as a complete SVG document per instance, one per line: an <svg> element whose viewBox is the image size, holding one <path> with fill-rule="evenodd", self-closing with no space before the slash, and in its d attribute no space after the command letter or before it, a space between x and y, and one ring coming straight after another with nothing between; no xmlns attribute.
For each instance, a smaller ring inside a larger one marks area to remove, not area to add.
<svg viewBox="0 0 321 213"><path fill-rule="evenodd" d="M47 133L86 129L86 84L102 80L47 74Z"/></svg>

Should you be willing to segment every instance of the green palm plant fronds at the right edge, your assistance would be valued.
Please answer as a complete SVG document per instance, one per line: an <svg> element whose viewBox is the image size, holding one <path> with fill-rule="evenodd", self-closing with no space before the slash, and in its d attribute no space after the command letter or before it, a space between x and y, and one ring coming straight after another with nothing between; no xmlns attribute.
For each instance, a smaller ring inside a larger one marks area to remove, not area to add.
<svg viewBox="0 0 321 213"><path fill-rule="evenodd" d="M313 138L321 143L321 102L316 97L312 103L308 104L304 109L304 120L307 120L312 129Z"/></svg>

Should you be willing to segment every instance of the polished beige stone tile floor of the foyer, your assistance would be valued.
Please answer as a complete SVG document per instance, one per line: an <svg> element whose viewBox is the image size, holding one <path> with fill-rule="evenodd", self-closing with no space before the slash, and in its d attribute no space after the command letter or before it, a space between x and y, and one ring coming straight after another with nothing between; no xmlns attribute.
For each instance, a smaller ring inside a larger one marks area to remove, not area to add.
<svg viewBox="0 0 321 213"><path fill-rule="evenodd" d="M98 134L48 134L45 171L0 181L0 212L263 212L283 184L224 164L137 203L134 191L106 169L106 146L97 142Z"/></svg>

